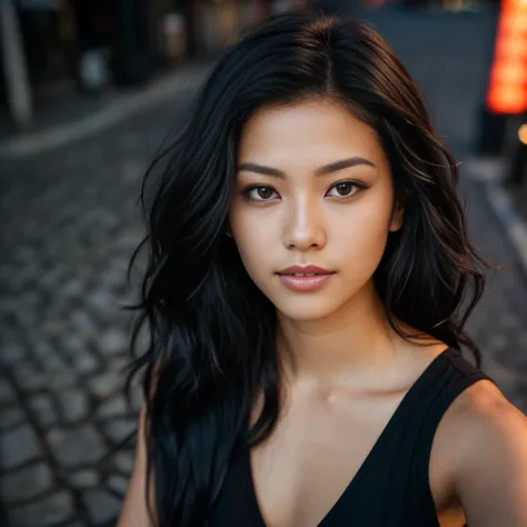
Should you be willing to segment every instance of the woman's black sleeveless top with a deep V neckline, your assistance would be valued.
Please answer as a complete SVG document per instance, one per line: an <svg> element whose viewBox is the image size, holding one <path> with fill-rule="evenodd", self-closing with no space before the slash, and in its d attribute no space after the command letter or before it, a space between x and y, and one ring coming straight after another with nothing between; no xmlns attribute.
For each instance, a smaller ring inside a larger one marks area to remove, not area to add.
<svg viewBox="0 0 527 527"><path fill-rule="evenodd" d="M439 527L428 483L434 435L456 397L481 379L488 377L460 351L437 356L318 527ZM208 527L266 527L247 449L233 460Z"/></svg>

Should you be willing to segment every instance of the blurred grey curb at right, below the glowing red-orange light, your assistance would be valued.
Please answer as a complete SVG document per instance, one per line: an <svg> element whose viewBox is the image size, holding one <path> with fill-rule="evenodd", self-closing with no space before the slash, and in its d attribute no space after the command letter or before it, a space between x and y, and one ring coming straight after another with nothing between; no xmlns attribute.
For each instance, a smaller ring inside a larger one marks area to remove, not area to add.
<svg viewBox="0 0 527 527"><path fill-rule="evenodd" d="M504 159L474 159L464 163L465 176L483 186L485 198L516 250L527 276L527 220L516 210L510 190L503 186Z"/></svg>

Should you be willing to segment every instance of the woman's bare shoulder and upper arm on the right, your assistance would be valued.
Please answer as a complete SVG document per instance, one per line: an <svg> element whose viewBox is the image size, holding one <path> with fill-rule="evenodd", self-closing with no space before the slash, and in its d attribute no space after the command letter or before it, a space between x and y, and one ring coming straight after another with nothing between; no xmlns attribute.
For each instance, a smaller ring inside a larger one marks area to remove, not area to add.
<svg viewBox="0 0 527 527"><path fill-rule="evenodd" d="M527 527L527 417L493 382L478 381L454 401L437 445L448 453L469 525Z"/></svg>

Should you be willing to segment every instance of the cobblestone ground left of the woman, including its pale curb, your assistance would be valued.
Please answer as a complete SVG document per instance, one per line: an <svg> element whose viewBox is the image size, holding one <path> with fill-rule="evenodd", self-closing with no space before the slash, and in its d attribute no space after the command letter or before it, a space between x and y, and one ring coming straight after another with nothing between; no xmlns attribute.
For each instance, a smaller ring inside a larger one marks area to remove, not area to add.
<svg viewBox="0 0 527 527"><path fill-rule="evenodd" d="M80 120L1 145L0 497L9 527L111 523L136 426L126 268L140 179L188 95L191 64Z"/></svg>

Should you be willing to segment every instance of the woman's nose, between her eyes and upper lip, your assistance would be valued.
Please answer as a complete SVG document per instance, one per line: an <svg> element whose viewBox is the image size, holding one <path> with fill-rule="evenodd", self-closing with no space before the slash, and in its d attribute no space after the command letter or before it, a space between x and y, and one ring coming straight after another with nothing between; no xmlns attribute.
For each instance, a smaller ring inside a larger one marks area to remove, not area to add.
<svg viewBox="0 0 527 527"><path fill-rule="evenodd" d="M326 245L326 229L320 206L308 196L291 200L286 218L285 246L299 251L321 249Z"/></svg>

